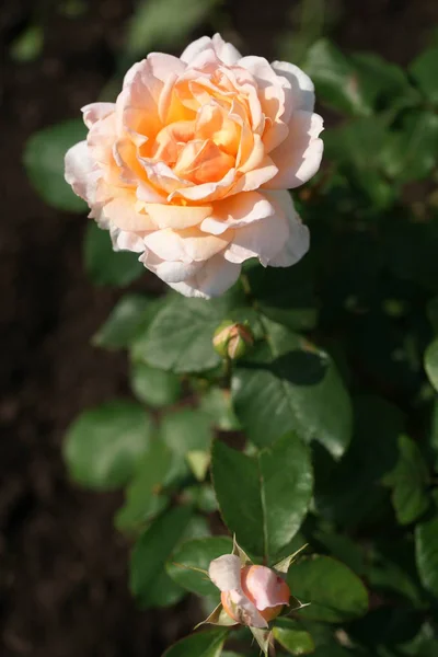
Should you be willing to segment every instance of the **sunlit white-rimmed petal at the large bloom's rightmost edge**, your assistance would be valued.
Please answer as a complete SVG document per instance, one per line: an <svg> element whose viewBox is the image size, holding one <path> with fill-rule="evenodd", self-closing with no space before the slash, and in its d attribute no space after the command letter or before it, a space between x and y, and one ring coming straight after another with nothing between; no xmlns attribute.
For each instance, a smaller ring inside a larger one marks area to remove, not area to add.
<svg viewBox="0 0 438 657"><path fill-rule="evenodd" d="M277 175L265 183L268 189L293 188L310 180L319 170L324 145L318 136L323 129L319 114L299 111L292 115L289 135L270 152Z"/></svg>

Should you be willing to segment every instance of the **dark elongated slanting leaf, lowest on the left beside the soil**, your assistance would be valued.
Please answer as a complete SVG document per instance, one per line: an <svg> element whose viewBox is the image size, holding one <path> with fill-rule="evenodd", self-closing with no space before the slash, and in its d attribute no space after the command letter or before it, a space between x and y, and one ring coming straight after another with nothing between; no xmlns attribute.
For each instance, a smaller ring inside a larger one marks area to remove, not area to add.
<svg viewBox="0 0 438 657"><path fill-rule="evenodd" d="M164 511L143 531L130 560L129 586L140 604L147 603L148 591L180 541L192 516L188 507Z"/></svg>

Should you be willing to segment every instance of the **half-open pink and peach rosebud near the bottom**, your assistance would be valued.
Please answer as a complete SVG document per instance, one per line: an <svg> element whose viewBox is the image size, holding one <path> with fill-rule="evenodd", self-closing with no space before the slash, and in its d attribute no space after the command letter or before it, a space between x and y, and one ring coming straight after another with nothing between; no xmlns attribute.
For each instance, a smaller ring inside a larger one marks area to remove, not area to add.
<svg viewBox="0 0 438 657"><path fill-rule="evenodd" d="M289 603L289 587L277 573L266 566L242 567L235 554L215 558L208 575L221 591L223 610L237 623L267 627Z"/></svg>

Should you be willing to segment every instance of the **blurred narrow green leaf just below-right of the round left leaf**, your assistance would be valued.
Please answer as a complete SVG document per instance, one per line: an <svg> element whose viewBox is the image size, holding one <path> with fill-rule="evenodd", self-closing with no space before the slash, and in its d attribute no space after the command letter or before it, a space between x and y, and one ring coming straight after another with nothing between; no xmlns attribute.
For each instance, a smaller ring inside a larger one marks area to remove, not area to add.
<svg viewBox="0 0 438 657"><path fill-rule="evenodd" d="M152 439L126 489L125 505L116 516L117 529L135 530L163 509L166 499L161 488L171 464L169 448L161 440Z"/></svg>

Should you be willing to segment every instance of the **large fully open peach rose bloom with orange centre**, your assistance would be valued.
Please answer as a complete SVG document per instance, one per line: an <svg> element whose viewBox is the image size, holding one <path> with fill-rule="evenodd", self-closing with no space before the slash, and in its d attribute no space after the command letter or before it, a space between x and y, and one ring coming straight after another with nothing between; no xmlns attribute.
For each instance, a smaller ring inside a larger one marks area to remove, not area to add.
<svg viewBox="0 0 438 657"><path fill-rule="evenodd" d="M181 58L134 65L116 103L83 107L89 134L68 151L66 180L115 250L187 297L215 297L249 258L288 267L307 252L286 189L320 166L313 103L298 67L204 36Z"/></svg>

